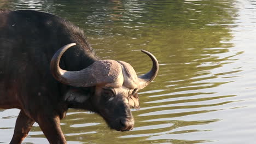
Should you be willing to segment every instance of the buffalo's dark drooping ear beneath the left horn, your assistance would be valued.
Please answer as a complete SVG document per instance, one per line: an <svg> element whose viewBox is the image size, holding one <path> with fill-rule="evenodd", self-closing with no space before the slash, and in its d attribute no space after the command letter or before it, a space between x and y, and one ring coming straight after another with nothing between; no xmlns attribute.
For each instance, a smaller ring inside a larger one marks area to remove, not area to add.
<svg viewBox="0 0 256 144"><path fill-rule="evenodd" d="M90 95L83 91L83 89L73 88L69 89L69 91L65 95L65 101L76 102L76 103L84 103L88 100Z"/></svg>

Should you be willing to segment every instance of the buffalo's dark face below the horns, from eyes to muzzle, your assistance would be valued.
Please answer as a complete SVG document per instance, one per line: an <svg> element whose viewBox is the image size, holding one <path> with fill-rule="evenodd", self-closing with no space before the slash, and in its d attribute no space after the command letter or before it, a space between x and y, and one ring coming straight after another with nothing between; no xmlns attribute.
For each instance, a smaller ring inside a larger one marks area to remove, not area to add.
<svg viewBox="0 0 256 144"><path fill-rule="evenodd" d="M109 127L119 131L131 130L134 119L131 108L138 108L137 93L125 87L97 87L96 109Z"/></svg>

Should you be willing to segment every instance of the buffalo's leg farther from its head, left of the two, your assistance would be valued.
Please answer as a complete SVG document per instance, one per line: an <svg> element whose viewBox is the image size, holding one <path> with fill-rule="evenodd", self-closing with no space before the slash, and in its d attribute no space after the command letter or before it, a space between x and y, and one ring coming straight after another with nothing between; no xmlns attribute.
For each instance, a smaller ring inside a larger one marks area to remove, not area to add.
<svg viewBox="0 0 256 144"><path fill-rule="evenodd" d="M28 117L25 112L21 110L18 118L16 119L13 139L11 139L10 144L21 143L27 136L33 124L34 120Z"/></svg>

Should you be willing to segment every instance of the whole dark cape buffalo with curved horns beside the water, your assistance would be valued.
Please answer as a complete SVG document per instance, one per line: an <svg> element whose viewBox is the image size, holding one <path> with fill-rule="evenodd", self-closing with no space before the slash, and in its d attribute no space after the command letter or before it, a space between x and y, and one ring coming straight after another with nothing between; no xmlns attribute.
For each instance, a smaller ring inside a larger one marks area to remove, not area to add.
<svg viewBox="0 0 256 144"><path fill-rule="evenodd" d="M96 112L110 128L131 130L137 91L159 69L156 58L142 52L153 67L137 76L129 63L100 60L71 22L38 11L0 10L0 108L21 110L10 143L21 143L34 122L50 143L66 143L60 119L68 108Z"/></svg>

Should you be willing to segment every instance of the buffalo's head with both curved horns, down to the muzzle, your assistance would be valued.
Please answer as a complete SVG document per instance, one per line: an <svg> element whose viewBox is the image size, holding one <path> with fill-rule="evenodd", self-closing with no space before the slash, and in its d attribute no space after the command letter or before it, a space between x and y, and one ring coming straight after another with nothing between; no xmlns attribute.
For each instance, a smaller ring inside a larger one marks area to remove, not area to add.
<svg viewBox="0 0 256 144"><path fill-rule="evenodd" d="M147 51L153 62L152 69L142 76L137 76L129 63L110 59L96 61L80 71L66 71L59 67L62 54L71 46L63 46L51 59L50 68L56 80L74 87L95 87L92 105L108 123L110 128L131 130L134 119L131 108L138 109L137 91L153 81L158 73L158 61Z"/></svg>

